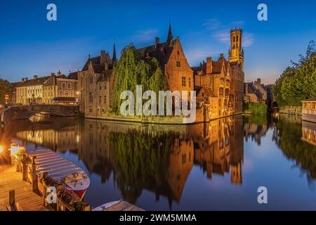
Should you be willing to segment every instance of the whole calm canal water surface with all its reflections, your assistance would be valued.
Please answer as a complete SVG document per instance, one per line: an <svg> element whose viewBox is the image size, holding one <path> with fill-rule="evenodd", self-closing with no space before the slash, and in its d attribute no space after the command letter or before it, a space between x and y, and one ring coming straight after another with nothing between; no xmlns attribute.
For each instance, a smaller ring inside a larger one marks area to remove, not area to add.
<svg viewBox="0 0 316 225"><path fill-rule="evenodd" d="M85 201L145 210L316 210L316 124L238 116L190 126L51 118L1 131L27 150L50 148L86 171ZM268 204L258 204L258 187Z"/></svg>

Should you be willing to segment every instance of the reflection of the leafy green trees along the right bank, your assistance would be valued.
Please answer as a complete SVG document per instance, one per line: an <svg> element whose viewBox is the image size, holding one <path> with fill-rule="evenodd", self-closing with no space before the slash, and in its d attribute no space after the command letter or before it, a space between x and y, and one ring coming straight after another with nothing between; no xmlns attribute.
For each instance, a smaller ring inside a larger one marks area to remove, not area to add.
<svg viewBox="0 0 316 225"><path fill-rule="evenodd" d="M316 147L301 141L301 122L281 117L276 123L276 128L273 131L273 141L289 160L295 160L294 167L301 169L301 176L307 175L310 188L315 190Z"/></svg>

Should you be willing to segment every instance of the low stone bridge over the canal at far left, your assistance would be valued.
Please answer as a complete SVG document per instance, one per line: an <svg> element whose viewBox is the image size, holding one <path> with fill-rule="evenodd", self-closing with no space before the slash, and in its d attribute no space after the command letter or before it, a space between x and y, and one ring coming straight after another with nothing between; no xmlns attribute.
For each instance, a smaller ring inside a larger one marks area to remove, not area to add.
<svg viewBox="0 0 316 225"><path fill-rule="evenodd" d="M73 117L78 114L77 105L32 105L13 106L7 108L1 115L1 122L6 125L11 120L28 119L36 113L48 113L58 117Z"/></svg>

